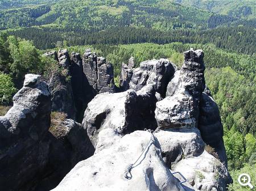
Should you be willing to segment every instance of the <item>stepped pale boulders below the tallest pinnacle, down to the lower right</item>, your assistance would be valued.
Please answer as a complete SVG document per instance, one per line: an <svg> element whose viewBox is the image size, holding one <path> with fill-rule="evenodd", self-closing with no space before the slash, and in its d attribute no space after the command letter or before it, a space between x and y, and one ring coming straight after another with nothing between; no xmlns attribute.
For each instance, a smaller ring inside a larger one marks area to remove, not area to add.
<svg viewBox="0 0 256 191"><path fill-rule="evenodd" d="M160 130L155 137L161 146L168 168L180 172L195 190L225 190L230 182L228 169L213 153L205 151L205 143L197 128Z"/></svg>

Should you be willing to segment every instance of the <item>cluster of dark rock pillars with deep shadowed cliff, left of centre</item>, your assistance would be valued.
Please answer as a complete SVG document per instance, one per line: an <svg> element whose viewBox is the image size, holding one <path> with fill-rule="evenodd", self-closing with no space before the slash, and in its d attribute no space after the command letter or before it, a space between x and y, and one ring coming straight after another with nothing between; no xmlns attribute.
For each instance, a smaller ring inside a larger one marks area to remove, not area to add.
<svg viewBox="0 0 256 191"><path fill-rule="evenodd" d="M54 77L55 84L61 88L52 94L52 111L67 113L68 118L81 122L87 104L96 94L115 92L112 64L90 49L82 58L75 52L69 57L67 49L44 55L55 58L61 70Z"/></svg>

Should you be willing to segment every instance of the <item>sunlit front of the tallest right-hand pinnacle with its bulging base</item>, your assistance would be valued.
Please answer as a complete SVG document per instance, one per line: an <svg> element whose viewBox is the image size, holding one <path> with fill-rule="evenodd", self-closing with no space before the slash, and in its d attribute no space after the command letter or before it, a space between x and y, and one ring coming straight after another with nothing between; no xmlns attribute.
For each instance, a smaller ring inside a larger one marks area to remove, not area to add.
<svg viewBox="0 0 256 191"><path fill-rule="evenodd" d="M204 53L202 50L184 52L184 64L179 79L174 77L176 90L156 104L156 121L161 128L197 127L199 100L205 88ZM177 73L176 73L177 75Z"/></svg>

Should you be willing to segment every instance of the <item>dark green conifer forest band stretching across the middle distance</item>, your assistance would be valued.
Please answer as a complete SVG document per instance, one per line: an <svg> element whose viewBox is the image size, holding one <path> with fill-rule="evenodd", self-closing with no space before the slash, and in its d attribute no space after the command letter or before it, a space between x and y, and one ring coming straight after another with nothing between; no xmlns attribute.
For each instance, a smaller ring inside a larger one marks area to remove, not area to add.
<svg viewBox="0 0 256 191"><path fill-rule="evenodd" d="M33 40L35 46L39 49L86 44L167 44L181 42L212 43L229 52L243 54L255 55L256 52L256 33L255 29L250 27L221 27L204 31L191 29L159 31L150 28L113 27L100 32L86 30L65 32L63 29L32 27L15 29L7 33L23 39Z"/></svg>

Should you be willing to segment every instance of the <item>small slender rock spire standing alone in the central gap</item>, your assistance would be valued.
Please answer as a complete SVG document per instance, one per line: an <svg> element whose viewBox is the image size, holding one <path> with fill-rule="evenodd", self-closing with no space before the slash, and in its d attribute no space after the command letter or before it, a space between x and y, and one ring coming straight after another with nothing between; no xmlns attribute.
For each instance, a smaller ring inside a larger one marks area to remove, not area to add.
<svg viewBox="0 0 256 191"><path fill-rule="evenodd" d="M128 65L122 63L122 69L120 74L119 88L120 91L129 90L129 83L131 81L131 77L133 77L133 66L134 66L134 58L131 57L129 59Z"/></svg>

